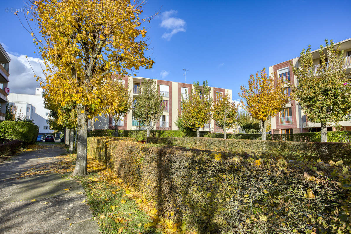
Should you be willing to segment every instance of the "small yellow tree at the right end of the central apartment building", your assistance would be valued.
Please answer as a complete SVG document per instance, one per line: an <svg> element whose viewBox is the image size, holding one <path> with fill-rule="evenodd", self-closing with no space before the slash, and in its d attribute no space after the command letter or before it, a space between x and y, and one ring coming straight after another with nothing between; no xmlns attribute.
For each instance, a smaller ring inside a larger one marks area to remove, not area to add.
<svg viewBox="0 0 351 234"><path fill-rule="evenodd" d="M233 127L238 118L238 106L232 101L229 93L214 102L212 116L217 125L223 128L223 138L227 139L227 128Z"/></svg>

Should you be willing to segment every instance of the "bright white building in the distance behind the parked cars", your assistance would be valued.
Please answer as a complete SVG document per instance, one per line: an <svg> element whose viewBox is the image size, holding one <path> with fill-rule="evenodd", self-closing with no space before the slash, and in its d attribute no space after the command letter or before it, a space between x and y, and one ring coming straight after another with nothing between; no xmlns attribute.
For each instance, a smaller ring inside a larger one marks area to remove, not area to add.
<svg viewBox="0 0 351 234"><path fill-rule="evenodd" d="M44 98L42 97L42 89L35 88L35 95L10 93L8 95L9 104L16 113L16 117L27 118L33 120L34 124L39 127L39 134L52 133L47 122L50 113L44 108Z"/></svg>

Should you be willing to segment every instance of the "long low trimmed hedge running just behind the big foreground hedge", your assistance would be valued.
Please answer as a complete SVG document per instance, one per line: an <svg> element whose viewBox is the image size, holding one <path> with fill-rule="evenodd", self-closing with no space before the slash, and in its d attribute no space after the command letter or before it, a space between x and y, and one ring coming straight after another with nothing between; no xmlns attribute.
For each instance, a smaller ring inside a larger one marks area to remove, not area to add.
<svg viewBox="0 0 351 234"><path fill-rule="evenodd" d="M231 153L249 153L259 155L283 155L289 159L309 158L323 161L351 162L351 143L341 142L293 142L234 140L216 138L148 138L149 143L170 146L226 151Z"/></svg>

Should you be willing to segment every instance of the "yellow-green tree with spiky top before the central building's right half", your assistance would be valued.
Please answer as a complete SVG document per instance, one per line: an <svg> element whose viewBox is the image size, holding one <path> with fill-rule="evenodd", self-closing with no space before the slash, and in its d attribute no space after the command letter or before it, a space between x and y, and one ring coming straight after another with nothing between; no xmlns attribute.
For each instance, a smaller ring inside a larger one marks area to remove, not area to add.
<svg viewBox="0 0 351 234"><path fill-rule="evenodd" d="M194 82L194 88L189 97L181 97L182 109L178 109L179 118L185 127L196 130L196 137L200 137L200 128L210 122L211 105L213 98L210 97L211 88L207 86L207 80L203 86L199 86L199 81Z"/></svg>

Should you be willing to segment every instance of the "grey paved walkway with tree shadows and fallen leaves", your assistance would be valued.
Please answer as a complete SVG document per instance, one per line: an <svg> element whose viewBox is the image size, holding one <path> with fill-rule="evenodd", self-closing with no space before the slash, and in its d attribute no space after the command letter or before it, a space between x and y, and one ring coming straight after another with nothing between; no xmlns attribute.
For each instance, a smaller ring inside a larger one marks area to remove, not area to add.
<svg viewBox="0 0 351 234"><path fill-rule="evenodd" d="M0 234L98 234L79 182L61 174L18 178L27 169L60 159L60 146L14 156L0 163ZM65 190L69 188L69 190Z"/></svg>

